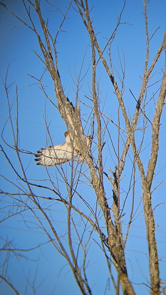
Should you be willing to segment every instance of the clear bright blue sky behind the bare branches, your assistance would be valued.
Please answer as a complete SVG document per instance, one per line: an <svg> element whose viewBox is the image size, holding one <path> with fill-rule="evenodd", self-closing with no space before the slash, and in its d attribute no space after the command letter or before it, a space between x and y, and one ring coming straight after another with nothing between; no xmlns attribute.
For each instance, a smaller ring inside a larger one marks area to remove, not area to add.
<svg viewBox="0 0 166 295"><path fill-rule="evenodd" d="M25 21L28 21L25 9L21 1L4 1L6 6L9 7L15 14L19 15ZM68 1L54 1L53 2L62 12L66 12L68 7ZM97 40L101 48L104 48L106 43L106 38L109 38L113 32L115 25L117 23L117 17L123 7L123 1L89 1L89 7L94 4L94 8L91 12L91 17L93 18L93 27L95 28L95 33L97 34ZM73 4L74 6L74 4ZM160 46L163 40L163 31L166 29L166 1L151 0L148 4L148 26L149 26L149 36L151 36L157 27L160 26L160 29L157 30L156 34L150 42L150 54L149 54L149 64L152 62L154 55ZM48 27L52 35L54 35L61 23L62 16L58 11L53 10L45 2L41 1L41 7L43 12L44 19L49 19ZM143 1L131 1L126 0L126 6L122 15L122 22L126 24L121 24L117 30L115 40L112 45L112 59L113 65L118 71L120 71L120 62L118 58L118 50L123 61L123 52L125 55L125 92L123 99L125 101L126 108L129 109L130 115L132 117L135 110L135 101L130 94L129 88L131 89L134 96L137 98L139 96L139 90L141 88L141 78L143 76L143 68L146 55L146 35L144 27L144 9ZM36 14L32 11L32 17L35 20L35 24L40 31L38 24L38 19ZM38 46L38 40L34 33L23 26L18 19L14 18L11 14L6 12L4 7L1 6L0 9L0 63L1 69L0 73L2 78L5 78L6 69L9 65L7 83L13 83L9 98L12 106L12 119L13 122L16 117L16 85L18 88L18 100L19 100L19 140L20 148L24 150L29 150L35 153L42 147L45 147L46 144L46 128L44 118L45 114L47 117L47 122L50 123L50 133L53 140L53 143L56 145L58 143L64 142L64 132L66 131L66 125L64 124L61 116L58 114L58 111L53 105L46 101L45 96L40 89L39 85L36 84L36 81L31 78L29 75L32 75L36 78L40 78L43 73L43 64L37 58L35 53L40 53ZM58 58L59 58L59 70L61 81L65 89L65 94L68 95L70 101L75 103L75 91L76 86L74 85L73 80L76 82L76 75L79 74L80 67L82 65L82 60L87 48L87 53L85 55L85 60L82 68L82 77L87 71L89 64L91 62L91 47L88 47L89 36L87 31L82 24L81 17L77 14L73 7L70 8L67 19L65 20L62 30L58 36ZM107 51L108 52L108 51ZM105 58L108 59L107 53L105 53ZM164 54L160 57L157 68L156 76L157 80L162 78L162 70L164 67ZM29 75L27 75L29 74ZM105 71L102 67L102 64L99 63L97 68L97 78L100 77L100 99L101 99L101 108L104 107L104 112L107 116L111 117L114 122L117 122L117 101L116 97L113 94L113 87L110 84L108 77L105 74ZM118 78L117 78L118 79ZM87 103L88 101L84 98L84 93L89 92L88 81L91 82L91 67L89 68L87 75L82 80L82 88L79 91L80 99ZM152 82L153 82L152 78ZM90 83L89 82L89 83ZM34 84L35 83L35 84ZM43 85L46 87L46 91L51 97L51 99L56 103L55 91L53 87L53 82L48 74L45 74L43 77ZM90 85L90 84L89 84ZM1 87L1 130L8 119L8 106L4 91L4 86L2 79L0 79ZM156 88L157 89L157 86ZM153 89L153 91L154 91ZM152 93L149 92L149 98L152 96ZM106 99L106 100L105 100ZM148 100L148 98L147 98ZM148 113L149 112L149 113ZM87 109L83 104L81 104L81 113L83 119L86 120L88 117ZM150 106L147 110L147 114L150 116L150 119L153 118L154 114L154 104ZM165 276L165 262L166 262L166 217L165 217L165 173L166 169L163 168L166 164L165 157L165 109L161 118L161 127L160 127L160 150L157 160L156 167L156 177L153 181L152 189L154 189L160 182L163 181L161 186L156 189L152 195L153 197L153 207L161 204L156 208L154 215L156 219L156 227L159 226L156 230L157 238L157 247L159 250L159 259L161 278L166 280ZM122 120L121 127L125 129L125 124ZM117 131L112 126L109 125L111 136L113 138L115 146L117 146ZM86 129L88 133L88 128ZM90 134L90 131L89 131ZM106 135L107 136L107 135ZM9 122L6 123L4 130L4 138L10 145L13 145L13 138L11 133L11 128ZM141 135L138 134L137 143L141 140ZM107 140L107 137L106 139ZM144 168L146 170L148 163L148 156L151 150L151 147L148 146L151 141L150 132L147 131L147 137L144 142L144 147L147 146L145 150L141 153L141 159L144 163ZM92 145L94 147L94 145ZM19 164L17 158L11 149L5 147L6 153L12 157L12 162L16 167L16 170L19 171ZM105 171L108 172L108 168L111 167L112 170L115 167L115 155L113 155L113 150L110 148L110 153L112 158L109 155L108 145L106 145L103 150L103 157L105 159ZM131 152L130 152L131 153ZM1 174L6 178L9 178L14 183L18 184L16 176L9 168L9 165L1 157L0 161ZM30 179L46 179L47 173L44 167L39 167L35 165L33 161L33 156L31 155L22 155L22 163L25 168L27 168L27 175ZM69 166L65 164L67 171L69 173ZM127 171L131 168L130 160L127 162L127 170L124 171L123 176L125 176L125 181L123 183L124 193L122 194L122 200L125 198L125 191L128 190L128 182L131 174L127 174ZM162 169L163 168L163 169ZM162 171L160 171L162 169ZM50 168L49 170L53 175L55 175L56 168ZM158 173L160 171L160 173ZM157 174L158 173L158 174ZM137 177L139 175L137 174ZM1 180L1 187L4 191L13 189L11 183L6 183L3 179ZM63 183L60 184L61 189L63 190ZM110 183L105 180L105 190L106 194L109 195L111 191ZM35 191L35 189L34 189ZM90 191L87 195L84 187L80 188L82 195L87 198L89 203L94 206L95 196ZM65 195L65 192L64 192ZM89 200L89 195L92 197ZM139 180L136 183L136 204L139 204L139 195L141 195L141 185ZM77 200L79 202L79 200ZM2 210L2 215L5 215L8 210L8 205L10 205L9 199L4 197L1 200L1 206L4 207ZM81 202L80 202L81 206ZM131 199L128 198L126 202L126 215L124 216L124 232L126 229L126 222L128 220L128 215L130 213ZM66 213L63 212L59 204L55 204L52 207L52 214L54 216L54 222L57 225L60 235L64 235L66 232ZM130 229L130 237L126 246L126 263L128 266L128 273L130 274L131 281L134 283L142 283L144 276L148 276L148 259L147 259L147 243L146 243L146 231L144 224L143 212L141 213L141 207L139 208L139 217L132 224ZM43 217L42 217L43 218ZM77 217L76 217L77 219ZM26 220L26 222L25 222ZM44 222L44 219L43 219ZM5 238L7 236L8 240L13 241L16 245L16 248L29 249L45 243L40 249L29 251L24 253L28 258L17 259L13 255L9 260L8 274L11 278L12 283L19 290L20 294L32 294L32 289L29 285L26 286L26 279L33 281L35 277L35 287L36 294L58 294L58 295L72 295L72 294L81 294L77 284L74 281L72 273L69 269L69 266L66 265L66 261L62 258L56 251L53 249L53 246L50 243L47 243L47 238L45 237L43 231L39 228L35 218L32 217L32 214L29 211L24 212L24 219L17 215L11 219L7 219L5 222L1 223L1 237ZM82 225L80 224L80 227ZM88 235L87 235L88 236ZM85 235L85 240L86 237ZM76 244L77 244L76 240ZM65 242L64 242L65 243ZM2 245L2 244L1 244ZM95 253L95 259L94 259ZM4 256L3 256L4 258ZM104 255L101 255L98 246L92 240L90 248L88 250L89 258L89 268L88 274L90 276L90 285L94 294L104 294L105 286L107 285L107 279L109 274L107 271L101 271L106 268L106 261ZM92 262L95 266L93 266ZM94 267L94 268L93 268ZM18 276L19 273L19 276ZM100 277L100 281L96 280L96 277ZM148 278L148 277L147 277ZM5 283L1 283L1 294L14 294L11 289L9 289ZM27 289L26 289L27 288ZM110 290L107 294L113 294L113 287L110 283ZM142 285L134 284L134 288L137 294L148 294L148 290L144 289ZM108 288L109 289L109 288ZM27 293L25 292L27 290Z"/></svg>

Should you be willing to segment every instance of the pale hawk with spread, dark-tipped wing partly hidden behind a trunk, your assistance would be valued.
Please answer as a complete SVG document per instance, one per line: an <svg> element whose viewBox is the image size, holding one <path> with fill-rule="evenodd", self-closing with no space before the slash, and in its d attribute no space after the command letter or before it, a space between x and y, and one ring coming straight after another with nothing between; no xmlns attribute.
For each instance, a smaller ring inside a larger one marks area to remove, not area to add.
<svg viewBox="0 0 166 295"><path fill-rule="evenodd" d="M72 140L71 133L65 132L66 142L63 145L53 145L49 148L41 148L35 154L35 161L38 161L37 165L41 166L56 166L61 165L70 160L79 160L83 161L83 155L80 155L79 150L75 144L75 141ZM90 148L91 135L87 137L87 146Z"/></svg>

